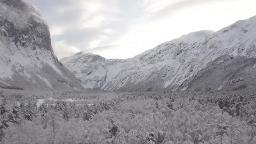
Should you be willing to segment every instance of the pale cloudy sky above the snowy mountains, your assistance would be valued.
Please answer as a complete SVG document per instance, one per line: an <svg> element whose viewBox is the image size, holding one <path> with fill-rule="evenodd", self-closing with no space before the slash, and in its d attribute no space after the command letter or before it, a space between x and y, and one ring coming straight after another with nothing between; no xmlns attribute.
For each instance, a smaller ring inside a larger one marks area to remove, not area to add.
<svg viewBox="0 0 256 144"><path fill-rule="evenodd" d="M27 0L51 31L59 59L83 51L126 59L181 35L256 15L256 0Z"/></svg>

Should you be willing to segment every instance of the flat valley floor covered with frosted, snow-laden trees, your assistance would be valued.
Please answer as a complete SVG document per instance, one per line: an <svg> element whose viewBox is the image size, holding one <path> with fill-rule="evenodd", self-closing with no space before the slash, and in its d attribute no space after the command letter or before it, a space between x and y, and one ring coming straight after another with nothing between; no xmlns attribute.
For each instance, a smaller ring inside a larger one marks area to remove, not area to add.
<svg viewBox="0 0 256 144"><path fill-rule="evenodd" d="M256 144L253 92L1 91L0 144Z"/></svg>

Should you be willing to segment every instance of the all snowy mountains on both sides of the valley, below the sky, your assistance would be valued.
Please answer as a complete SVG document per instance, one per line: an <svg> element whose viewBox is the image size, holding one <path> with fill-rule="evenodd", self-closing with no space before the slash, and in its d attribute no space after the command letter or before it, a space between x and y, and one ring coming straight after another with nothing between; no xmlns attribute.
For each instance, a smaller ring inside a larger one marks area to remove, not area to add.
<svg viewBox="0 0 256 144"><path fill-rule="evenodd" d="M131 59L80 52L61 62L37 8L0 0L0 88L13 89L254 89L256 16L217 32L189 33Z"/></svg>

